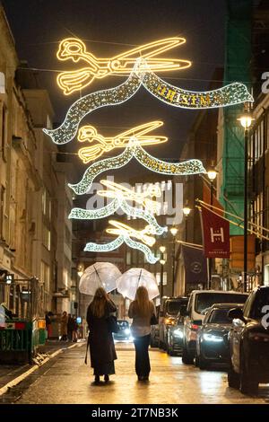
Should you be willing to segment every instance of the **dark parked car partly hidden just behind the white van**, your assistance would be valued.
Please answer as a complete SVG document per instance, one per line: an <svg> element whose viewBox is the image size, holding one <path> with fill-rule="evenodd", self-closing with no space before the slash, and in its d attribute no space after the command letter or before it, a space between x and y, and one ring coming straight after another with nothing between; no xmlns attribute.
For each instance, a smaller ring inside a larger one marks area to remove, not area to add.
<svg viewBox="0 0 269 422"><path fill-rule="evenodd" d="M177 324L177 315L182 308L187 307L185 296L167 297L161 303L159 312L159 347L166 350L169 328Z"/></svg>

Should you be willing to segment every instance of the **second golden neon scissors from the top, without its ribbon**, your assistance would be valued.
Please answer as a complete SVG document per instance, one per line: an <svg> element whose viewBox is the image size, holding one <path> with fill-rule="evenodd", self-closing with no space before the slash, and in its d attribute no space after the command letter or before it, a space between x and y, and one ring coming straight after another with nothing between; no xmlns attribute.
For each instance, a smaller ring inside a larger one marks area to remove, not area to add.
<svg viewBox="0 0 269 422"><path fill-rule="evenodd" d="M93 126L83 126L79 130L77 137L78 141L87 141L93 145L81 148L78 151L78 155L83 163L90 163L114 148L125 148L129 143L131 136L135 136L140 145L156 145L167 142L167 136L145 135L162 125L162 121L155 120L140 126L132 127L131 129L112 137L101 136Z"/></svg>

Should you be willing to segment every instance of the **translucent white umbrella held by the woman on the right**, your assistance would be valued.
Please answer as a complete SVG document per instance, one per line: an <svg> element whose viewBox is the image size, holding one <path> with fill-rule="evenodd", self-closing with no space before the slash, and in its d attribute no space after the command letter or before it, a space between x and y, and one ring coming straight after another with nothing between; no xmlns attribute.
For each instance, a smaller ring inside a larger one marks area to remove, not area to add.
<svg viewBox="0 0 269 422"><path fill-rule="evenodd" d="M128 269L122 276L117 278L116 284L118 293L131 300L134 300L135 292L139 286L147 288L150 299L160 295L156 278L143 268Z"/></svg>

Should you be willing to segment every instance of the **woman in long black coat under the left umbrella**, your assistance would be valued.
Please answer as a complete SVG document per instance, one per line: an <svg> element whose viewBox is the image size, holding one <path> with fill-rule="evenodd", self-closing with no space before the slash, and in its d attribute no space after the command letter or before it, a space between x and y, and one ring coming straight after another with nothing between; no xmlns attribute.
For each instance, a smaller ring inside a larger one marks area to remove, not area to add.
<svg viewBox="0 0 269 422"><path fill-rule="evenodd" d="M114 360L117 359L117 355L112 332L108 330L108 316L116 311L115 303L109 298L105 289L99 287L87 310L90 330L88 341L95 383L100 382L102 375L105 382L108 382L109 375L115 374Z"/></svg>

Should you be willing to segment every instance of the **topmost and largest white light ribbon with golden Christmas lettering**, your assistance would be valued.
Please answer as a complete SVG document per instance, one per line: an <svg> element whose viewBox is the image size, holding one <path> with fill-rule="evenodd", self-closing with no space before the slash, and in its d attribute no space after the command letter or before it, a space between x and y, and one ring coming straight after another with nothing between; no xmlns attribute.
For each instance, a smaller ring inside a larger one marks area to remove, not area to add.
<svg viewBox="0 0 269 422"><path fill-rule="evenodd" d="M43 131L51 137L55 144L66 144L74 139L79 124L86 115L93 110L100 109L100 107L121 104L129 100L138 91L141 84L159 100L174 107L189 110L228 107L245 101L254 101L244 84L229 84L218 90L207 92L186 91L165 83L152 72L145 72L144 65L143 71L141 71L142 63L141 60L137 60L134 71L124 84L85 95L70 107L60 127L56 129L44 128Z"/></svg>

